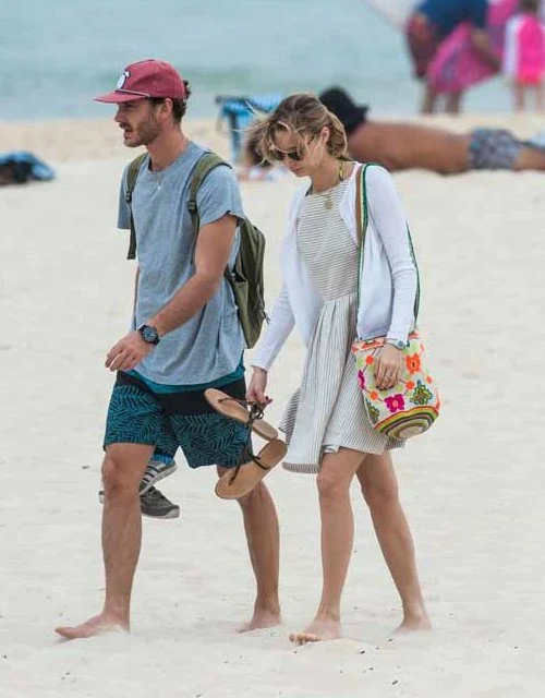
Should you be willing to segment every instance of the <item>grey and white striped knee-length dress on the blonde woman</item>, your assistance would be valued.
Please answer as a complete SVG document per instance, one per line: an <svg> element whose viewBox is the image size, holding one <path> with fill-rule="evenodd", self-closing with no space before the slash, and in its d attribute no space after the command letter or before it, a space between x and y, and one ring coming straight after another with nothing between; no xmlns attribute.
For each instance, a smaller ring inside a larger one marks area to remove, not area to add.
<svg viewBox="0 0 545 698"><path fill-rule="evenodd" d="M298 250L324 305L301 386L280 423L289 446L283 467L292 472L318 472L323 454L341 447L382 454L403 443L371 425L350 353L356 335L358 249L339 213L347 185L343 181L328 192L308 194L296 224Z"/></svg>

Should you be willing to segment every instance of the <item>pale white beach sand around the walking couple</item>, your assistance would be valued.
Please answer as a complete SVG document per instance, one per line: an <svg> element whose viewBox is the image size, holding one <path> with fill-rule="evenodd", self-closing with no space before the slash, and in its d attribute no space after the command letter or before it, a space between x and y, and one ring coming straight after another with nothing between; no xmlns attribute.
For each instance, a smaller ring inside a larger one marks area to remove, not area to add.
<svg viewBox="0 0 545 698"><path fill-rule="evenodd" d="M510 123L524 135L541 128ZM211 124L190 133L226 152ZM319 519L313 479L280 468L268 482L286 625L235 634L253 600L241 517L215 497L210 470L180 462L164 490L181 518L144 520L133 635L65 643L52 628L96 613L102 597L97 489L112 381L104 358L131 304L126 237L116 231L131 154L111 122L7 124L0 152L15 147L51 161L59 178L0 190L1 698L543 695L545 174L396 178L445 401L437 426L397 456L434 634L392 638L397 594L354 488L348 639L290 646L319 595ZM295 186L243 188L269 237L271 299ZM271 421L302 356L290 338L272 372Z"/></svg>

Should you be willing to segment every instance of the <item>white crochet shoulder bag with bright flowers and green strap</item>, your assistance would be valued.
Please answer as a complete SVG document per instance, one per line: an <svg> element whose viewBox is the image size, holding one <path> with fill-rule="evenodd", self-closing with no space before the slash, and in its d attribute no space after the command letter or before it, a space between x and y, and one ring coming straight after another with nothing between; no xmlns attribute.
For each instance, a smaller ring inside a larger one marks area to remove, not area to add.
<svg viewBox="0 0 545 698"><path fill-rule="evenodd" d="M358 174L356 216L361 230L358 277L363 270L365 231L367 229L367 196L365 172L371 165L362 167ZM407 229L412 250L411 233ZM420 288L414 303L414 318L419 313ZM360 280L358 282L360 301ZM358 302L360 304L360 302ZM363 394L365 411L370 422L380 433L392 438L405 440L424 433L439 416L440 400L437 385L427 366L424 344L417 332L409 336L403 351L403 374L396 385L379 390L375 382L375 358L385 345L385 337L356 339L352 353L358 368L358 383Z"/></svg>

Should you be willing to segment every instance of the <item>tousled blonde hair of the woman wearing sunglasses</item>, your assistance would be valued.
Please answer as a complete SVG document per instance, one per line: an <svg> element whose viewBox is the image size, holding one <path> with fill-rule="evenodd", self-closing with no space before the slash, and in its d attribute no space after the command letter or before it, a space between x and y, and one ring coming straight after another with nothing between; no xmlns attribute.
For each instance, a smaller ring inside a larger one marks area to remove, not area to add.
<svg viewBox="0 0 545 698"><path fill-rule="evenodd" d="M316 137L325 127L329 129L326 143L329 155L348 159L344 127L312 93L296 93L282 99L268 117L251 127L249 136L263 159L272 161L278 132L288 133L303 151L307 147L305 136Z"/></svg>

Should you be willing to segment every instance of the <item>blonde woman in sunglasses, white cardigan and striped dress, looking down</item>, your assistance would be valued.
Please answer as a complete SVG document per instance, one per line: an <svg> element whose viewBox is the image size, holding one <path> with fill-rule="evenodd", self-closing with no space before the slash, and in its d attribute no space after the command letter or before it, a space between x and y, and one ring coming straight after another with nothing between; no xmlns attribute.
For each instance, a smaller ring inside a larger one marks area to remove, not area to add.
<svg viewBox="0 0 545 698"><path fill-rule="evenodd" d="M358 306L356 177L340 121L310 94L287 97L255 127L259 151L295 177L308 177L291 206L281 265L283 286L255 358L247 399L267 401L267 372L294 326L306 347L301 386L287 406L284 468L316 472L322 516L323 589L313 622L291 640L341 637L340 603L354 535L350 484L358 477L401 597L400 629L431 627L411 532L389 452L402 443L373 430L350 349L356 336L387 336L377 361L379 387L401 372L400 347L414 325L417 270L390 174L367 170L370 225Z"/></svg>

